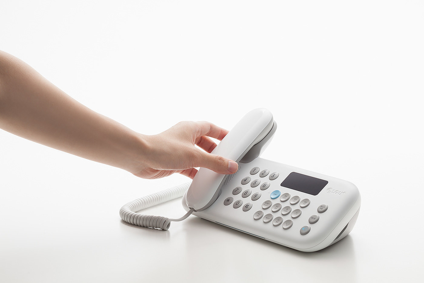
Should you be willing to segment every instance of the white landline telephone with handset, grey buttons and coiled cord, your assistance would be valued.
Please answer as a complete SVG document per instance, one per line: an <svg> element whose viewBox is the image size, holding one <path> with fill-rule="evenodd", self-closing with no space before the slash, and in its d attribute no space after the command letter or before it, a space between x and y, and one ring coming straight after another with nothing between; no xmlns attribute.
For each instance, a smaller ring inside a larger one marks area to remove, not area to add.
<svg viewBox="0 0 424 283"><path fill-rule="evenodd" d="M239 169L222 175L200 168L193 181L129 202L120 217L131 224L167 230L190 214L302 252L340 241L356 223L357 187L338 178L259 158L277 124L264 108L247 113L212 151ZM187 190L188 189L188 190ZM179 219L137 211L181 197Z"/></svg>

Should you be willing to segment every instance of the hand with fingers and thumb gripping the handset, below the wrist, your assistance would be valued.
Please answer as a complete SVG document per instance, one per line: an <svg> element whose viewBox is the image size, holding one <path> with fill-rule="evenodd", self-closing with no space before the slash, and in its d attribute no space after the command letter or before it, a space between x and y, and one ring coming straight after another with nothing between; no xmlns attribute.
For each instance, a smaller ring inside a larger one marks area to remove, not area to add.
<svg viewBox="0 0 424 283"><path fill-rule="evenodd" d="M143 160L139 168L130 172L146 179L162 178L173 173L194 178L197 173L194 167L233 174L238 170L236 162L211 154L217 144L209 137L222 140L227 133L228 130L209 122L184 121L157 135L143 135L146 145Z"/></svg>

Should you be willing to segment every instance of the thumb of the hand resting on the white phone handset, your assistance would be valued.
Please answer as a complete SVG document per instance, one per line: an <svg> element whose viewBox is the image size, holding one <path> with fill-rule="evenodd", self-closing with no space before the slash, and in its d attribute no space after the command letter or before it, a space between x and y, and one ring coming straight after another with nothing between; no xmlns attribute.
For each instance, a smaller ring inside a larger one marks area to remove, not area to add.
<svg viewBox="0 0 424 283"><path fill-rule="evenodd" d="M198 162L196 162L198 167L204 167L220 174L233 174L238 170L237 162L228 158L201 150L199 150L199 153Z"/></svg>

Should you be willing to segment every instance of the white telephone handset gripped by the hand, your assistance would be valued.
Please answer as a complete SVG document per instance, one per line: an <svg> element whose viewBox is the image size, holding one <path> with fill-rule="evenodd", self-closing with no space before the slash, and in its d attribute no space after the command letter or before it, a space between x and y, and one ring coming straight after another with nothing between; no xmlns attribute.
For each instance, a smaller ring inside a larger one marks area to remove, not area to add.
<svg viewBox="0 0 424 283"><path fill-rule="evenodd" d="M212 153L236 162L242 161L243 156L248 154L245 160L253 160L269 144L275 130L276 124L269 110L265 108L251 110L212 150ZM258 146L254 147L256 144ZM201 211L213 204L218 198L225 176L200 168L187 190L187 206L195 211Z"/></svg>

